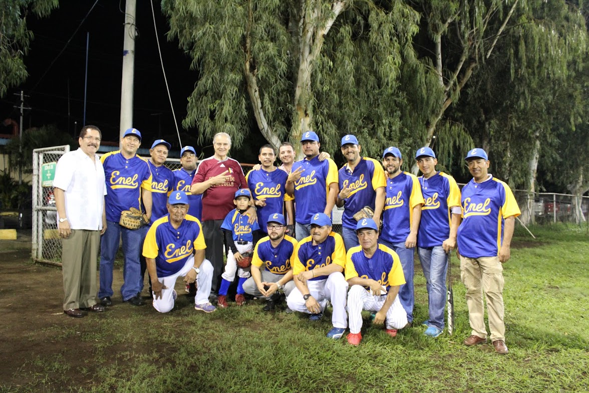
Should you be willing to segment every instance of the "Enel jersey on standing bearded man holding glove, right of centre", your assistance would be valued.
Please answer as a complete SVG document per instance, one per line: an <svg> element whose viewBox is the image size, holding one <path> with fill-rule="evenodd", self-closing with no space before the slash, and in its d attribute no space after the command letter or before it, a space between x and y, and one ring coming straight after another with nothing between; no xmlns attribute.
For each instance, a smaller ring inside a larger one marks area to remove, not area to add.
<svg viewBox="0 0 589 393"><path fill-rule="evenodd" d="M340 190L346 187L352 189L350 196L343 200L342 226L355 230L357 222L353 215L364 206L374 210L376 189L386 186L385 172L378 161L360 157L354 171L350 171L345 164L338 172L338 179Z"/></svg>

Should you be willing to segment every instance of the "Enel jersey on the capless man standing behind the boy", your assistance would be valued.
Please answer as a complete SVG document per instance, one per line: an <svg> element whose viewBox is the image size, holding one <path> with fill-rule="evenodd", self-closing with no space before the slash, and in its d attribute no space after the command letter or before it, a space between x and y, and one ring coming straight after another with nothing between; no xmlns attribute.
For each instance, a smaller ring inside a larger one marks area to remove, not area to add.
<svg viewBox="0 0 589 393"><path fill-rule="evenodd" d="M266 197L266 206L257 207L258 222L261 224L260 229L268 232L266 229L266 219L272 213L282 212L284 209L284 200L290 200L286 196L286 179L289 175L280 169L267 172L263 169L251 170L246 175L247 187L252 191L254 199Z"/></svg>

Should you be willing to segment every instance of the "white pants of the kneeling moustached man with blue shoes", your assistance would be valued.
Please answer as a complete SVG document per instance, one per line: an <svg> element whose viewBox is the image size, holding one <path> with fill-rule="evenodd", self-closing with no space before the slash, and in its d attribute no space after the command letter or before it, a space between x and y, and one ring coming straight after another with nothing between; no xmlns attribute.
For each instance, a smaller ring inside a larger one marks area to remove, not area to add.
<svg viewBox="0 0 589 393"><path fill-rule="evenodd" d="M325 310L327 306L327 300L332 302L333 314L332 314L332 325L334 328L347 328L348 327L348 315L346 314L346 296L348 295L348 282L343 278L343 274L340 272L333 272L325 280L307 280L307 287L309 293L317 303L321 311ZM292 311L306 312L310 314L309 310L305 306L305 299L303 294L300 293L299 288L294 288L290 292L289 297L286 299L286 303Z"/></svg>

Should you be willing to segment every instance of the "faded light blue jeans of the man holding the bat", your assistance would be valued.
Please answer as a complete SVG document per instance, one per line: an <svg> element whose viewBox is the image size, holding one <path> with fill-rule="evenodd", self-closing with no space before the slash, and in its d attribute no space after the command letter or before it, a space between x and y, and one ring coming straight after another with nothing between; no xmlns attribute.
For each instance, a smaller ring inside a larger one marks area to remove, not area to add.
<svg viewBox="0 0 589 393"><path fill-rule="evenodd" d="M429 326L444 329L444 310L446 308L446 268L448 256L442 246L421 248L417 254L427 282Z"/></svg>

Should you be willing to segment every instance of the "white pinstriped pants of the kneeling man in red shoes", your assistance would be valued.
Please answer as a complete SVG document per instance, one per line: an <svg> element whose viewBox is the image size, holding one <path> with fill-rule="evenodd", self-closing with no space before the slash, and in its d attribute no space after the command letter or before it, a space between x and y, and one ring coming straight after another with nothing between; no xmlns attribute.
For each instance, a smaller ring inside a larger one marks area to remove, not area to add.
<svg viewBox="0 0 589 393"><path fill-rule="evenodd" d="M380 311L385 304L386 295L370 295L362 285L352 285L348 292L348 315L350 333L360 333L362 329L362 310ZM399 295L396 296L391 308L386 311L386 328L401 329L407 325L407 312L401 305Z"/></svg>

